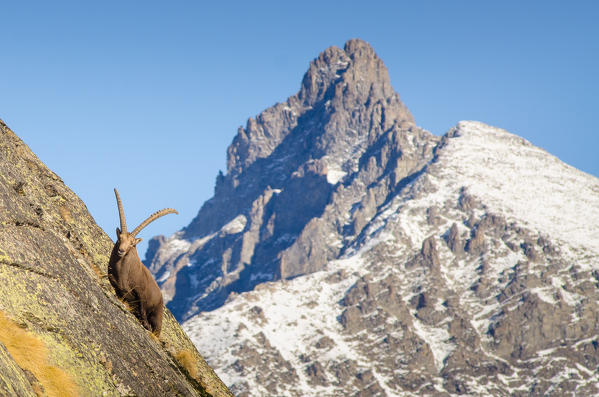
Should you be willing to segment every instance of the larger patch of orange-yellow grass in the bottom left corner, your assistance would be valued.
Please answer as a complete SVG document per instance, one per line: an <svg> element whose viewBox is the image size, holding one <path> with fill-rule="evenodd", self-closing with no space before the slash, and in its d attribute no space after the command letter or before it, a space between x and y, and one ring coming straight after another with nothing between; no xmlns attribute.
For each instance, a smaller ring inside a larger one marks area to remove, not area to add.
<svg viewBox="0 0 599 397"><path fill-rule="evenodd" d="M35 335L20 328L0 311L0 342L24 370L31 371L48 397L77 396L77 386L62 369L50 365L48 349ZM36 393L39 393L36 391Z"/></svg>

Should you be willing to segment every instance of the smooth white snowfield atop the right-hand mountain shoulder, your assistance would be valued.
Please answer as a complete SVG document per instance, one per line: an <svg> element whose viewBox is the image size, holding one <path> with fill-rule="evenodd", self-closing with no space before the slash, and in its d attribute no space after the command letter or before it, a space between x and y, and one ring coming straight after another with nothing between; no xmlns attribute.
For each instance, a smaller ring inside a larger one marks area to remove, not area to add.
<svg viewBox="0 0 599 397"><path fill-rule="evenodd" d="M462 161L453 165L441 161L443 170L438 178L462 175L468 180L462 185L495 211L572 244L572 248L599 252L596 178L498 128L461 122L454 134L467 139L452 142L444 154L460 156Z"/></svg>

